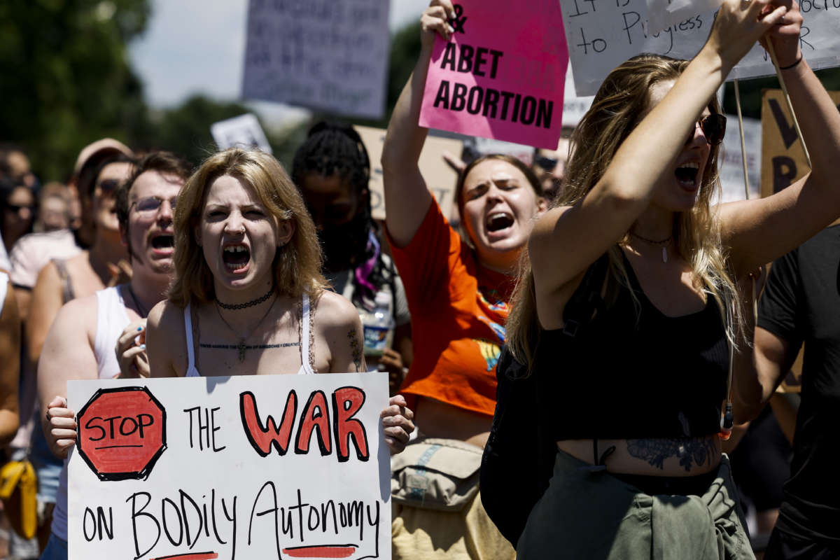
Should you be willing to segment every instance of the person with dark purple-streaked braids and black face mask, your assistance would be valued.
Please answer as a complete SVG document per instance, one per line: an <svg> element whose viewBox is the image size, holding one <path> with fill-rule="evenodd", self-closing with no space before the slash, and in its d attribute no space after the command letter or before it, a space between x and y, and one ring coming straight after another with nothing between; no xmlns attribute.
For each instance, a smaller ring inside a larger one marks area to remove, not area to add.
<svg viewBox="0 0 840 560"><path fill-rule="evenodd" d="M402 280L371 216L370 160L359 133L348 124L315 124L297 149L291 179L318 228L324 274L362 315L365 360L369 369L388 371L393 395L411 364L411 317ZM394 325L384 349L376 343L377 330L364 320L377 303L387 306Z"/></svg>

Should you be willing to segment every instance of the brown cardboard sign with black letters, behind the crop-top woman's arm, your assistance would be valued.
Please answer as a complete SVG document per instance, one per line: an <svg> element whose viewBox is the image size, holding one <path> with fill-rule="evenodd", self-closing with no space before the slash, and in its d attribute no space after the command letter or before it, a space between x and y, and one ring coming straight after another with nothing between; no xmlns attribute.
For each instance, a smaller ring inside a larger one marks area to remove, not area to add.
<svg viewBox="0 0 840 560"><path fill-rule="evenodd" d="M838 2L840 3L840 2ZM840 107L840 92L828 92ZM804 177L809 171L784 94L764 90L761 101L761 196L770 196Z"/></svg>

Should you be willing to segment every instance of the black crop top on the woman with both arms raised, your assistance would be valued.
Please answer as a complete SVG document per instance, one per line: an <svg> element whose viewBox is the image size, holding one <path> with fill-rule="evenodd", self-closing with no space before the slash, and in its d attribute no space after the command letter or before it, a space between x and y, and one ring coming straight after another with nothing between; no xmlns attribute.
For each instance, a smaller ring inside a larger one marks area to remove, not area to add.
<svg viewBox="0 0 840 560"><path fill-rule="evenodd" d="M702 311L666 317L627 257L624 265L640 309L622 285L577 337L541 334L535 371L554 440L719 432L729 354L717 301L707 296Z"/></svg>

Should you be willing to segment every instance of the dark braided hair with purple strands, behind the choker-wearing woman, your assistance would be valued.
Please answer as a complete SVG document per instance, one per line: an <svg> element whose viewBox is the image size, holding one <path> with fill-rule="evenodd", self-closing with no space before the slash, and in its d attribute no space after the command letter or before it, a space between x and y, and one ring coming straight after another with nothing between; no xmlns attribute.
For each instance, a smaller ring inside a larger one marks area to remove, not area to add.
<svg viewBox="0 0 840 560"><path fill-rule="evenodd" d="M295 182L298 190L302 191L304 200L306 192L303 189L304 180L307 175L322 175L323 177L338 176L347 181L350 187L359 196L359 209L363 212L365 222L368 224L367 231L373 232L376 238L379 236L379 227L371 217L370 210L370 158L362 139L349 124L331 123L320 121L309 129L307 139L297 149L295 158L291 165L291 180ZM358 214L357 214L358 216ZM350 281L354 285L353 302L355 305L370 306L375 292L381 290L382 285L393 282L393 266L388 266L382 259L381 249L371 243L360 243L363 248L360 254L355 255L356 270L351 275ZM370 290L369 285L360 281L357 270L376 255L375 264L366 281L373 285L375 290Z"/></svg>

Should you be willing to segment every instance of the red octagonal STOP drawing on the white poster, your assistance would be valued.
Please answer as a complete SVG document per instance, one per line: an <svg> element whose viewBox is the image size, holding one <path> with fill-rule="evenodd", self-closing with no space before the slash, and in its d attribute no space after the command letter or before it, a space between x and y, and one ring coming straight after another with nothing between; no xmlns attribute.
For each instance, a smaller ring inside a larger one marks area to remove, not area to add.
<svg viewBox="0 0 840 560"><path fill-rule="evenodd" d="M79 454L102 480L145 479L166 448L166 411L145 387L97 390L76 421Z"/></svg>

